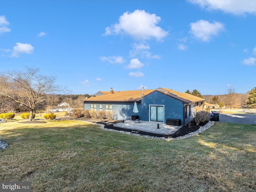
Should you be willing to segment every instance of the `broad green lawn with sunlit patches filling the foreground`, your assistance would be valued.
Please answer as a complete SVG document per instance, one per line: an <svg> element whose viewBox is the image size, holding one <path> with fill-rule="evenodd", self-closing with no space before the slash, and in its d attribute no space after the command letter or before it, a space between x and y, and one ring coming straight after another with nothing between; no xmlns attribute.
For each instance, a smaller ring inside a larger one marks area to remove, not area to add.
<svg viewBox="0 0 256 192"><path fill-rule="evenodd" d="M81 121L0 124L0 181L32 191L256 190L256 126L216 122L199 135L160 140Z"/></svg>

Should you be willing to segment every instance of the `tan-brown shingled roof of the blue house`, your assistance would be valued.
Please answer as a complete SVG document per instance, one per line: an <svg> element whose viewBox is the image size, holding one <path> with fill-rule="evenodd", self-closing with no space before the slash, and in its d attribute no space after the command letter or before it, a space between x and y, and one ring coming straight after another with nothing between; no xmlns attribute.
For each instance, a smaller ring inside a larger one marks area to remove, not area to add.
<svg viewBox="0 0 256 192"><path fill-rule="evenodd" d="M158 88L158 89L150 89L144 90L144 96L152 94L153 92L160 92L167 96L176 98L181 100L184 103L194 103L204 101L204 99L199 98L197 96L188 94L188 93L181 93L167 88ZM102 91L101 91L102 92ZM114 93L108 92L107 94L103 94L100 96L90 97L88 99L84 99L82 101L86 102L140 102L142 97L142 90L132 90L132 91L116 91Z"/></svg>

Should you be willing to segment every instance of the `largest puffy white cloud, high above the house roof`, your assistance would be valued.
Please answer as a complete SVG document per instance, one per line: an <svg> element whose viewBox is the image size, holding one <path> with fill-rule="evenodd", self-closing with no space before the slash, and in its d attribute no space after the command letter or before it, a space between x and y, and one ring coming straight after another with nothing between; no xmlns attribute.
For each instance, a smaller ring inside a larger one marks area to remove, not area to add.
<svg viewBox="0 0 256 192"><path fill-rule="evenodd" d="M168 32L157 26L160 20L161 18L156 14L150 14L144 10L125 12L119 17L119 23L105 28L104 35L126 34L136 39L156 38L161 41L168 35Z"/></svg>

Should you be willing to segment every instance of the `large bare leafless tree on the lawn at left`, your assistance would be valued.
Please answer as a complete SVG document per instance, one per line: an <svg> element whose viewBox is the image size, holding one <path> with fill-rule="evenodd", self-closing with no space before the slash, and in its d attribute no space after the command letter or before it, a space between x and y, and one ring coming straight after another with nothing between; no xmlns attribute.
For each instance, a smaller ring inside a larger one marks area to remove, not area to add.
<svg viewBox="0 0 256 192"><path fill-rule="evenodd" d="M32 120L36 106L44 103L51 94L64 91L54 84L55 78L39 74L39 69L28 68L23 72L8 71L0 74L0 95L10 98L30 110Z"/></svg>

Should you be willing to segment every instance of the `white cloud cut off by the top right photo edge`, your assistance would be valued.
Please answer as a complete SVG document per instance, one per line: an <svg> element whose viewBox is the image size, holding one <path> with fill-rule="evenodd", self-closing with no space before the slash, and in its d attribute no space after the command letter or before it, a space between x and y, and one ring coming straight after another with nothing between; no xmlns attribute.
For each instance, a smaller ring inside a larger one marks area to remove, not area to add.
<svg viewBox="0 0 256 192"><path fill-rule="evenodd" d="M189 0L206 10L221 10L235 15L256 14L256 1L254 0Z"/></svg>

